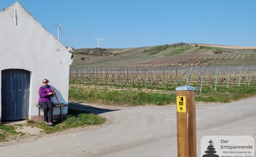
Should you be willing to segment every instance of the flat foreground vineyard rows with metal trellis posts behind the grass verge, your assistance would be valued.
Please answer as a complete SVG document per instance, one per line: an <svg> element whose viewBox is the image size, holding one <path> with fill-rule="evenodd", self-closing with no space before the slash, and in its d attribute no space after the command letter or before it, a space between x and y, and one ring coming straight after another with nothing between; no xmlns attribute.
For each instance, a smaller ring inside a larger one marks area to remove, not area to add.
<svg viewBox="0 0 256 157"><path fill-rule="evenodd" d="M189 79L188 79L189 78ZM70 85L91 88L173 91L182 85L219 88L256 85L254 66L74 68Z"/></svg>

